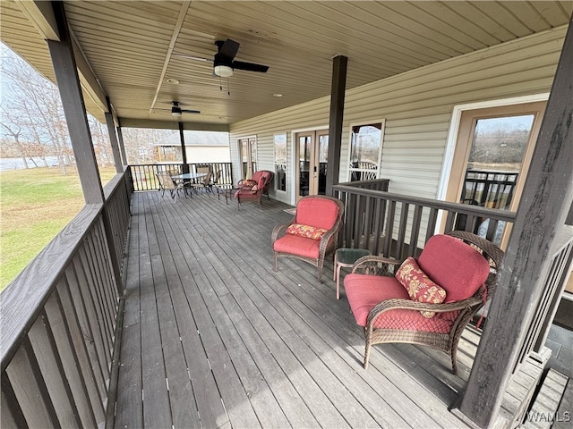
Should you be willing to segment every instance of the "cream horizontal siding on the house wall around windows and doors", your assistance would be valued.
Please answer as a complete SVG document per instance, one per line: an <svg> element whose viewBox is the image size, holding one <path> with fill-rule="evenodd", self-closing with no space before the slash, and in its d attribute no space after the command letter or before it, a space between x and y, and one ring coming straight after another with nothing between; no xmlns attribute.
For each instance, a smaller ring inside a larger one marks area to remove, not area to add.
<svg viewBox="0 0 573 429"><path fill-rule="evenodd" d="M565 30L552 29L347 90L339 180L347 177L350 124L384 118L381 177L390 180L392 192L435 198L454 106L548 92ZM259 168L273 170L273 134L287 132L290 163L291 131L321 128L328 122L329 97L322 97L236 122L230 133L232 141L256 134ZM236 145L231 159L238 160ZM276 198L292 202L291 186L288 178L286 194Z"/></svg>

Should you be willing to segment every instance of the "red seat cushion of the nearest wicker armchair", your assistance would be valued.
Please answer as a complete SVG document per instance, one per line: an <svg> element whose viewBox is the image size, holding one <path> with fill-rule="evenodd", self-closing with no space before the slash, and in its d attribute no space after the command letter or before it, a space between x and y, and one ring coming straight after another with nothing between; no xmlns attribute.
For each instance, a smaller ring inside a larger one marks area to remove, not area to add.
<svg viewBox="0 0 573 429"><path fill-rule="evenodd" d="M379 302L386 299L410 299L406 289L395 277L351 273L344 279L344 288L356 323L361 326L366 326L368 314ZM440 313L429 319L416 310L396 309L382 313L374 327L447 334L457 316L458 311L454 311Z"/></svg>

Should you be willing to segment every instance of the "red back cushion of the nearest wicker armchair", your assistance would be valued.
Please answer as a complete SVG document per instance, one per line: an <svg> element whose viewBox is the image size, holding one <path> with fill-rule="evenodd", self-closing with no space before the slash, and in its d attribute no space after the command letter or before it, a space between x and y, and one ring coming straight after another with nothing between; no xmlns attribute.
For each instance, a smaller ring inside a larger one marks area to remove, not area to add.
<svg viewBox="0 0 573 429"><path fill-rule="evenodd" d="M417 262L446 290L445 302L470 298L490 273L490 265L475 248L449 235L432 236Z"/></svg>

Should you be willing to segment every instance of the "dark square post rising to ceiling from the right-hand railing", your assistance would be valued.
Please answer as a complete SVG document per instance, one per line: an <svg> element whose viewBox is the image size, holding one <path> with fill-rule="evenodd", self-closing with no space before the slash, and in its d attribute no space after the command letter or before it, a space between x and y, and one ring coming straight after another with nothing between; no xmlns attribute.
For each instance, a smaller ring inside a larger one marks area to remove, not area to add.
<svg viewBox="0 0 573 429"><path fill-rule="evenodd" d="M326 172L326 195L332 195L332 186L338 183L340 175L340 147L342 146L342 119L346 89L346 64L343 55L332 61L332 85L330 88L329 120L329 166Z"/></svg>

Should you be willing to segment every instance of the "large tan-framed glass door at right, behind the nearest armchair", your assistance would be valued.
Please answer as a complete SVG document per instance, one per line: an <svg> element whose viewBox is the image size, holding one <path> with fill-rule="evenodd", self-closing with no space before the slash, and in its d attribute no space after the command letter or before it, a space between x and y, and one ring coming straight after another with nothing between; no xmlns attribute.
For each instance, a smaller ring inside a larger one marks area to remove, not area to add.
<svg viewBox="0 0 573 429"><path fill-rule="evenodd" d="M544 113L544 102L466 111L449 180L448 198L474 206L515 211L531 162ZM457 220L466 229L465 216ZM489 219L476 225L485 236ZM498 224L488 236L498 245L507 240L508 228Z"/></svg>

